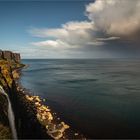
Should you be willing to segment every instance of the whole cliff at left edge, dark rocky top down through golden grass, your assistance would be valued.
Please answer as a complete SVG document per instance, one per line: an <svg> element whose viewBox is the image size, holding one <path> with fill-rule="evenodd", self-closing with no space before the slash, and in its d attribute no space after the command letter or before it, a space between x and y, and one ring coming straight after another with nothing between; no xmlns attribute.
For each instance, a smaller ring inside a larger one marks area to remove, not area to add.
<svg viewBox="0 0 140 140"><path fill-rule="evenodd" d="M9 97L12 97L16 69L22 67L20 54L0 50L0 139L11 139ZM3 92L5 91L5 93Z"/></svg>

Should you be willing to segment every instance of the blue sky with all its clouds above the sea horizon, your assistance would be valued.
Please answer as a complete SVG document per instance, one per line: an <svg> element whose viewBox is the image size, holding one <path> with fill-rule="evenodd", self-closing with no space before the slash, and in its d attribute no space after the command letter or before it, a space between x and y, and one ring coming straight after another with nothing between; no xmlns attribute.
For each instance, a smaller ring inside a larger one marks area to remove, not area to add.
<svg viewBox="0 0 140 140"><path fill-rule="evenodd" d="M139 0L0 0L0 49L23 59L139 58Z"/></svg>

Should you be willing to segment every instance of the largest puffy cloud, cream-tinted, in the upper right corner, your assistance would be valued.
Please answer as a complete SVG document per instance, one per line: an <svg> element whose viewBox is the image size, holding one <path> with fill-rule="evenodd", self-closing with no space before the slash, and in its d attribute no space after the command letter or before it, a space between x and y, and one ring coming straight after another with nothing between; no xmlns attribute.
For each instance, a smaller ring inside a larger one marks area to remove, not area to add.
<svg viewBox="0 0 140 140"><path fill-rule="evenodd" d="M140 30L140 0L96 0L86 6L86 12L109 35L127 36Z"/></svg>

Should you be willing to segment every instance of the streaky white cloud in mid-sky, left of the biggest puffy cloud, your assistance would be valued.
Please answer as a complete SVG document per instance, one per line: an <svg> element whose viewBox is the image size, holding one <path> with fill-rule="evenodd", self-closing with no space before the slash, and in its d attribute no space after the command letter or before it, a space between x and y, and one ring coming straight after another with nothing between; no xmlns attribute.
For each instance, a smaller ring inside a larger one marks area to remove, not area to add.
<svg viewBox="0 0 140 140"><path fill-rule="evenodd" d="M80 45L88 45L88 44L99 44L98 41L96 41L96 38L91 35L96 31L93 22L88 21L73 21L73 22L67 22L66 24L63 24L61 28L52 28L52 29L32 29L30 30L30 33L33 36L36 37L43 37L43 38L49 38L51 37L53 41L46 40L39 43L32 43L35 45L43 45L45 46L61 46L65 45L67 46L80 46ZM51 42L51 43L50 43ZM56 45L54 45L56 44Z"/></svg>

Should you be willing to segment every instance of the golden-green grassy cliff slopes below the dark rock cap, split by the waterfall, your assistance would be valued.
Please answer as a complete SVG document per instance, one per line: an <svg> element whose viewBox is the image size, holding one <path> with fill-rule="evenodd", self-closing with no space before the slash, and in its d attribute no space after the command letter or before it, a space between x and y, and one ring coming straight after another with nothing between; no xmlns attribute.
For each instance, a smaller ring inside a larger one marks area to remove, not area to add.
<svg viewBox="0 0 140 140"><path fill-rule="evenodd" d="M5 89L11 88L13 82L12 72L21 67L13 61L0 60L0 85ZM0 94L0 139L12 138L7 116L7 99Z"/></svg>

